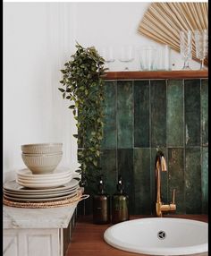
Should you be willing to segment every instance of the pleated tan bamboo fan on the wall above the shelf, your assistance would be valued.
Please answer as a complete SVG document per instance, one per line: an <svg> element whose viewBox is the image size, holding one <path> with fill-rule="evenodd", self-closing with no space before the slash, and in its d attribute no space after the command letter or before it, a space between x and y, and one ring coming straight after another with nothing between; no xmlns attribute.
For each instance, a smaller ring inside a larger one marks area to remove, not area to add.
<svg viewBox="0 0 211 256"><path fill-rule="evenodd" d="M158 43L180 52L180 30L207 30L208 4L203 3L152 3L139 23L138 32ZM192 57L196 57L193 37ZM208 64L208 59L205 59Z"/></svg>

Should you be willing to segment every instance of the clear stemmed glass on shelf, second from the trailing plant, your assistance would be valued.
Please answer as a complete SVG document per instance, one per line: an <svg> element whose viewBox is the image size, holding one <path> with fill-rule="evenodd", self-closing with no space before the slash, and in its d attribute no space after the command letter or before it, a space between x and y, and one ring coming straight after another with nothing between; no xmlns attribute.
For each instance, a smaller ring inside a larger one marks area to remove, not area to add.
<svg viewBox="0 0 211 256"><path fill-rule="evenodd" d="M133 46L122 46L119 50L119 61L124 63L124 71L128 71L129 63L134 60L134 47Z"/></svg>

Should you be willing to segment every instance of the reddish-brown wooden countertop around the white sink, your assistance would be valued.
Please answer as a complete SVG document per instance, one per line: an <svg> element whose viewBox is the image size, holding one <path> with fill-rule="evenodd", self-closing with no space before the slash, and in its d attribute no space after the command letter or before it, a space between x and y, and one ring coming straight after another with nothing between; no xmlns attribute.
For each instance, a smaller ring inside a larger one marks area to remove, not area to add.
<svg viewBox="0 0 211 256"><path fill-rule="evenodd" d="M132 216L135 218L148 218L153 216ZM167 215L164 218L189 218L208 222L207 215ZM95 225L92 217L80 217L72 231L71 243L65 256L146 256L133 252L124 252L105 243L103 235L109 225Z"/></svg>

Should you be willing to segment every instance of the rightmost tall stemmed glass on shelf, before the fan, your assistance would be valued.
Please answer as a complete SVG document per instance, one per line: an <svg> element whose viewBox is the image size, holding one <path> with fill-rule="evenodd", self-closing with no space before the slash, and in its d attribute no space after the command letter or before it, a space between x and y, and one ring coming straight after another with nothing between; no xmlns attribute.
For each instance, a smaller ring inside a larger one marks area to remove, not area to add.
<svg viewBox="0 0 211 256"><path fill-rule="evenodd" d="M195 47L196 56L200 60L200 69L205 69L204 61L208 54L208 31L207 30L195 30Z"/></svg>

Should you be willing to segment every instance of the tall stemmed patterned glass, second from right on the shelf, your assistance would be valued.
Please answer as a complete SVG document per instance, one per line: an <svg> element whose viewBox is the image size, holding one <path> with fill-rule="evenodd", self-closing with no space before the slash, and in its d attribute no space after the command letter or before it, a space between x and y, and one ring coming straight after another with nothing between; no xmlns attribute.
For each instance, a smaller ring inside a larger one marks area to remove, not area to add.
<svg viewBox="0 0 211 256"><path fill-rule="evenodd" d="M180 31L181 58L184 61L183 70L190 70L189 62L192 58L192 31Z"/></svg>

